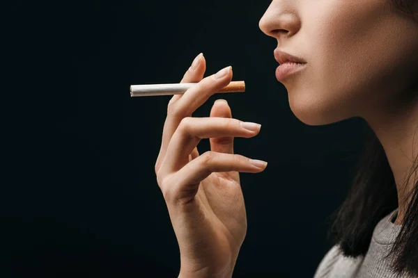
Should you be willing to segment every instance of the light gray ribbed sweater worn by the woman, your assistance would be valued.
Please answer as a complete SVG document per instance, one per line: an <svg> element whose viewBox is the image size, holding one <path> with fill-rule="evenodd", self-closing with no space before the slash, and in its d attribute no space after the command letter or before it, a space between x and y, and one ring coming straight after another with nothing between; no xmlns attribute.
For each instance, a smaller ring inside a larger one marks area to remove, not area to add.
<svg viewBox="0 0 418 278"><path fill-rule="evenodd" d="M335 245L325 254L314 278L392 278L394 272L384 256L389 252L401 225L394 224L398 210L392 211L376 225L366 256L343 256ZM403 276L410 277L410 276Z"/></svg>

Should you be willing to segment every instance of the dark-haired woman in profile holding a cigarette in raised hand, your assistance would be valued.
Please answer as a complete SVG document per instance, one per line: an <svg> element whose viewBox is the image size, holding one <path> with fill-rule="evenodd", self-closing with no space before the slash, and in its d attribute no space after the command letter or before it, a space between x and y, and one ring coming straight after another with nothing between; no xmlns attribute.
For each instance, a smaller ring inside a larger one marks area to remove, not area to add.
<svg viewBox="0 0 418 278"><path fill-rule="evenodd" d="M277 79L291 110L309 125L362 117L371 147L333 225L335 246L315 277L418 277L417 0L274 0L260 28L277 40ZM287 53L287 54L286 54ZM291 54L293 56L289 56ZM293 61L292 63L289 61ZM180 247L179 277L231 277L247 231L239 172L267 163L233 154L233 138L260 125L232 118L226 101L210 117L192 113L232 79L231 67L203 79L196 57L169 101L155 173ZM201 138L211 151L199 154Z"/></svg>

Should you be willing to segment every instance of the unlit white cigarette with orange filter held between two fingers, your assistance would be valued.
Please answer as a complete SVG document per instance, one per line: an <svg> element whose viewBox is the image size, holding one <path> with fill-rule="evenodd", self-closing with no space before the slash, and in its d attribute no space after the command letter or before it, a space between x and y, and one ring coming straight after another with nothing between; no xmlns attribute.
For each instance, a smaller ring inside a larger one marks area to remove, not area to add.
<svg viewBox="0 0 418 278"><path fill-rule="evenodd" d="M183 95L189 88L197 83L174 83L174 84L150 84L131 85L131 97L149 97L160 95ZM218 92L245 92L244 81L231 81L229 85Z"/></svg>

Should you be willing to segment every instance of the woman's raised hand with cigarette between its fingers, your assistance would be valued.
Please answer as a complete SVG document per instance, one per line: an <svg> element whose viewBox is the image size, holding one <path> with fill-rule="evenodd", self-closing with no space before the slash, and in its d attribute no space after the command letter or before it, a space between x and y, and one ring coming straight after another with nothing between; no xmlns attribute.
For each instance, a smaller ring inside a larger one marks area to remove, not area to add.
<svg viewBox="0 0 418 278"><path fill-rule="evenodd" d="M232 79L231 67L202 79L205 70L206 60L200 54L181 81L197 84L169 101L155 163L180 247L179 277L232 276L247 232L239 172L262 172L267 165L256 166L233 154L233 138L254 137L260 125L249 123L252 130L242 127L226 101L215 102L210 117L191 117ZM211 150L199 155L196 146L203 138L210 138Z"/></svg>

